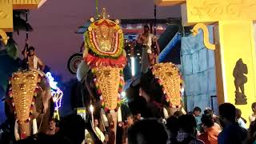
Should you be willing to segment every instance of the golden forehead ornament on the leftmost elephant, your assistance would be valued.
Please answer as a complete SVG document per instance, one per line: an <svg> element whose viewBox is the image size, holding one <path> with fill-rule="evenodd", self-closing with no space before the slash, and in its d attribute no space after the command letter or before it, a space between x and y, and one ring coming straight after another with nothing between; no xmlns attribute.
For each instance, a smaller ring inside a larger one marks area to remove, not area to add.
<svg viewBox="0 0 256 144"><path fill-rule="evenodd" d="M38 83L38 71L18 71L13 74L10 83L17 119L19 122L25 122L30 116L30 106Z"/></svg>

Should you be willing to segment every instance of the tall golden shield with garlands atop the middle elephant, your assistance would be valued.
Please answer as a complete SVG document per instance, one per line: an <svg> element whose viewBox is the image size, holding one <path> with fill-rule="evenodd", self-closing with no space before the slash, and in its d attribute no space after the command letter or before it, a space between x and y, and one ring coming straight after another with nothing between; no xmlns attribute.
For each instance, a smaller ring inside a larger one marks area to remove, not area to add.
<svg viewBox="0 0 256 144"><path fill-rule="evenodd" d="M102 14L92 23L84 34L88 49L102 58L118 58L123 50L123 33L120 20L112 21L103 8Z"/></svg>

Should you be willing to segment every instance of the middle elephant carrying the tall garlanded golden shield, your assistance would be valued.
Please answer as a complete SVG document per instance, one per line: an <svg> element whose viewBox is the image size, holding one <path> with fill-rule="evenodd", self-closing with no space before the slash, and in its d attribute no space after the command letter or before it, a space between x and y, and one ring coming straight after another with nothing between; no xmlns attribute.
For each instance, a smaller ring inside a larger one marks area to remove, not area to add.
<svg viewBox="0 0 256 144"><path fill-rule="evenodd" d="M76 94L73 93L81 97L73 98L72 106L86 107L87 111L90 111L90 105L94 106L94 116L100 119L103 129L108 131L106 128L116 128L118 122L122 122L120 103L124 84L123 68L126 66L124 39L120 21L110 20L105 8L96 20L90 18L90 22L84 34L84 62L78 66L77 72L81 81L74 88Z"/></svg>

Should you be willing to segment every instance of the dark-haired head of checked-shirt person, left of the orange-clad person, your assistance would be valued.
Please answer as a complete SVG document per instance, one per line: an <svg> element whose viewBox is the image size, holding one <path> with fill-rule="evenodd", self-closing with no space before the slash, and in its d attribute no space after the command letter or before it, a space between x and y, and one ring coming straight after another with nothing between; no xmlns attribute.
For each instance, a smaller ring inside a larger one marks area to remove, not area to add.
<svg viewBox="0 0 256 144"><path fill-rule="evenodd" d="M196 134L197 122L193 115L184 114L178 118L178 126L180 130L188 134Z"/></svg>

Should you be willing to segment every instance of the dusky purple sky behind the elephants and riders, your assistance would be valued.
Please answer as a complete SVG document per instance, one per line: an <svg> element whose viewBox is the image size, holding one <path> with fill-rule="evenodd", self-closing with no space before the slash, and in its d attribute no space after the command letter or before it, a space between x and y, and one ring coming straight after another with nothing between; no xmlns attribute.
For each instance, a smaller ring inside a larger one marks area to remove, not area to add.
<svg viewBox="0 0 256 144"><path fill-rule="evenodd" d="M99 10L106 7L110 18L154 18L153 0L98 0ZM158 18L180 17L180 7L159 7ZM48 0L39 10L31 11L30 45L36 48L38 57L50 66L54 74L62 75L62 81L74 78L67 70L70 56L79 51L82 34L75 34L88 18L95 14L93 0ZM20 51L25 43L25 32L15 36Z"/></svg>

